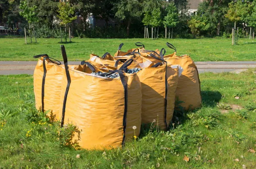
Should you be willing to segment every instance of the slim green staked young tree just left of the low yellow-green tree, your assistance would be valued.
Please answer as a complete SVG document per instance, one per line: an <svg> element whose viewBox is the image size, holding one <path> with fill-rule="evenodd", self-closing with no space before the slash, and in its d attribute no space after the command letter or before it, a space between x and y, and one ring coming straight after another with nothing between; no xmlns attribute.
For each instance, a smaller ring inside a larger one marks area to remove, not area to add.
<svg viewBox="0 0 256 169"><path fill-rule="evenodd" d="M175 27L176 24L178 23L178 12L173 2L168 4L168 6L165 8L165 11L167 12L167 15L164 17L163 24L165 29L169 27L169 38L170 38L170 28L172 28L173 30L173 27ZM166 34L165 34L165 37L166 37Z"/></svg>

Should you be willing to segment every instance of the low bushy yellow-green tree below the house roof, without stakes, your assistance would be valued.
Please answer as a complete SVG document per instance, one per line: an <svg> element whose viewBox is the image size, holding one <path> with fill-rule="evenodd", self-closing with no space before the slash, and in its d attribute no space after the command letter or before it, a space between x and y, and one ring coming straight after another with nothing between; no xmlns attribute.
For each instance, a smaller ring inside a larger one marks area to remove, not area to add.
<svg viewBox="0 0 256 169"><path fill-rule="evenodd" d="M191 32L194 36L199 36L201 31L206 31L209 29L210 24L206 24L205 20L205 16L194 16L191 18L190 21L188 21L188 26L190 27Z"/></svg>

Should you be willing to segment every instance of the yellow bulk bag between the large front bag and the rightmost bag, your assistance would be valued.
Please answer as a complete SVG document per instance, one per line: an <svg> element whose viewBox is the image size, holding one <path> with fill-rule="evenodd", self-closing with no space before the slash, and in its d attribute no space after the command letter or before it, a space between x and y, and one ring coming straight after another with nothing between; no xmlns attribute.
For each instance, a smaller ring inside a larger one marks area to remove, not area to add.
<svg viewBox="0 0 256 169"><path fill-rule="evenodd" d="M130 60L132 59L124 65ZM158 60L160 63L164 62L159 58ZM125 67L122 66L120 69L123 70ZM137 72L137 75L142 93L141 123L151 124L155 120L154 125L158 123L159 129L167 130L174 110L179 68L166 63L157 67L150 65Z"/></svg>

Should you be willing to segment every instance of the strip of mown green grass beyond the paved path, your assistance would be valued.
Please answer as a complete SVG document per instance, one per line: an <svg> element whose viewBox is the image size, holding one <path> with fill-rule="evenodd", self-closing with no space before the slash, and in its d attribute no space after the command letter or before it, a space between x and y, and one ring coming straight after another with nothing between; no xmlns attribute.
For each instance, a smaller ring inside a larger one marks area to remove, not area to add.
<svg viewBox="0 0 256 169"><path fill-rule="evenodd" d="M48 54L62 60L60 39L37 39L38 43L25 45L24 38L1 38L0 61L35 61L34 55ZM255 61L256 48L253 40L239 39L232 46L231 39L72 39L64 43L69 61L81 61L94 53L99 56L105 52L114 55L120 43L123 51L135 48L135 42L142 42L146 49L165 48L167 54L173 53L165 43L168 41L176 48L178 55L188 54L195 61Z"/></svg>

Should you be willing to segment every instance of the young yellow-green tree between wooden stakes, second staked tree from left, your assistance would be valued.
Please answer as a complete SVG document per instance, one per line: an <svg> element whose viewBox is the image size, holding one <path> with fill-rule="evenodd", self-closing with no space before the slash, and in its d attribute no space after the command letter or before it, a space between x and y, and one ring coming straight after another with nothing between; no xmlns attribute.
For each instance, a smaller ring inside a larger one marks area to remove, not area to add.
<svg viewBox="0 0 256 169"><path fill-rule="evenodd" d="M73 16L75 14L75 8L71 7L69 2L60 2L58 4L58 12L59 15L58 17L60 18L61 25L65 25L65 40L67 42L67 30L66 30L66 25L75 20L77 17ZM69 31L69 41L70 41L70 31Z"/></svg>

